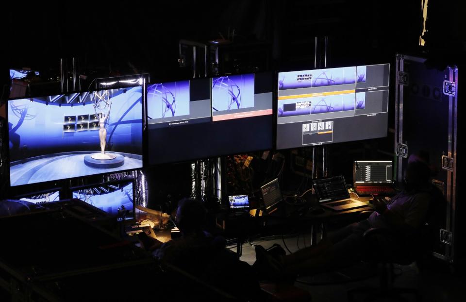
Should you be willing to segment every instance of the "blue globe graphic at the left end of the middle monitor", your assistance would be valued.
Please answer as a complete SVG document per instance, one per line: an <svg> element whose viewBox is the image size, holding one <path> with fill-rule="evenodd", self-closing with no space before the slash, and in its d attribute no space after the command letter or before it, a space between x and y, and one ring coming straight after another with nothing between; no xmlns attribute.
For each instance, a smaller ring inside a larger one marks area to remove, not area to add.
<svg viewBox="0 0 466 302"><path fill-rule="evenodd" d="M152 84L147 101L149 119L189 115L189 81Z"/></svg>

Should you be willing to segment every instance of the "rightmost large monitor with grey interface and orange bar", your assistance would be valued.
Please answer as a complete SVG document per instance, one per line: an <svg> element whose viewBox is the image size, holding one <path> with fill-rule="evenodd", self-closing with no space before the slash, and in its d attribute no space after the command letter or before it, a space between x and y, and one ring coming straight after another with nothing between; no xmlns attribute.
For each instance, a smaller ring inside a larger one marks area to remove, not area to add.
<svg viewBox="0 0 466 302"><path fill-rule="evenodd" d="M384 137L389 64L280 72L277 149Z"/></svg>

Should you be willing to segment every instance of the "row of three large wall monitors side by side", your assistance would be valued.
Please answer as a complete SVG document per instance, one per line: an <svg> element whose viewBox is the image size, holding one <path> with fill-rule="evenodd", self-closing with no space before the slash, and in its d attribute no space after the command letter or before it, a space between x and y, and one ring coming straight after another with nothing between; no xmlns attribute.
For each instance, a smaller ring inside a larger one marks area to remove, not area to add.
<svg viewBox="0 0 466 302"><path fill-rule="evenodd" d="M273 148L272 73L8 101L10 181L27 185ZM276 148L383 137L389 64L278 74Z"/></svg>

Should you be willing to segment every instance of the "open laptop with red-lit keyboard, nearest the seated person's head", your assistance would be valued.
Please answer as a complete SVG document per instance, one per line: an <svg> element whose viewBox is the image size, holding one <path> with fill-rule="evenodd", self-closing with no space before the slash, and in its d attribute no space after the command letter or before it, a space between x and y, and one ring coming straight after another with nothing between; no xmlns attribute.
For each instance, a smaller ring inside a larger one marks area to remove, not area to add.
<svg viewBox="0 0 466 302"><path fill-rule="evenodd" d="M360 196L393 196L392 161L355 161L353 187Z"/></svg>

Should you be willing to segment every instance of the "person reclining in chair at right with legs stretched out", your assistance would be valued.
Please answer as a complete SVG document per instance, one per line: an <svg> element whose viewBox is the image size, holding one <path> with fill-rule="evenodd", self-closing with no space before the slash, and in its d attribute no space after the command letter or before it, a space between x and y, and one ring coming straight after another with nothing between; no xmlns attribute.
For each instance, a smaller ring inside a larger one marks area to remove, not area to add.
<svg viewBox="0 0 466 302"><path fill-rule="evenodd" d="M275 276L316 273L363 259L365 252L370 252L363 237L370 228L388 229L399 239L412 237L425 223L431 201L441 194L429 183L429 178L427 163L416 155L410 156L403 191L386 203L383 199L373 199L375 212L369 218L330 234L315 247L290 255L271 257L264 248L257 246L255 266L260 273ZM393 248L408 249L404 245Z"/></svg>

